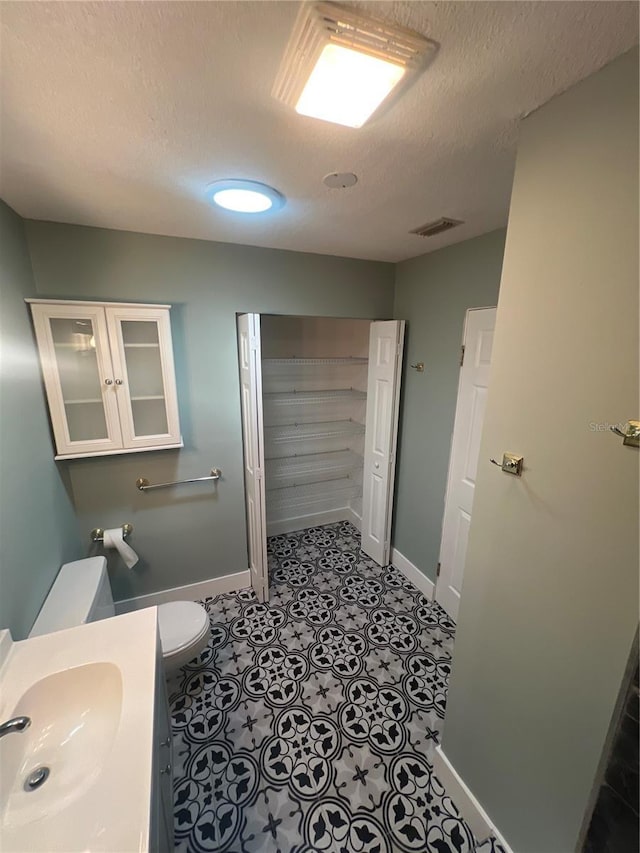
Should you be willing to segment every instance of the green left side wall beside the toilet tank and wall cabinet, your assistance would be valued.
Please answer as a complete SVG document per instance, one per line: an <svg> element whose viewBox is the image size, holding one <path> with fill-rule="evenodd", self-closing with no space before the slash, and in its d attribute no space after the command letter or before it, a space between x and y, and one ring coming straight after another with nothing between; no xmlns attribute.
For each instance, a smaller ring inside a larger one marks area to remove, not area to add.
<svg viewBox="0 0 640 853"><path fill-rule="evenodd" d="M79 556L24 304L34 295L24 224L0 201L0 627L14 639L28 634L61 563Z"/></svg>

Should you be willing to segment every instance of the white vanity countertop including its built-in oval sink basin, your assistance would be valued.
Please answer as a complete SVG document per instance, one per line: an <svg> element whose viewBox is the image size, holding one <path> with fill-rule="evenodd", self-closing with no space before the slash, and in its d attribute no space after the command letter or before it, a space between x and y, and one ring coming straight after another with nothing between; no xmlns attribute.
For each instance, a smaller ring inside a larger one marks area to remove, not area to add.
<svg viewBox="0 0 640 853"><path fill-rule="evenodd" d="M155 607L13 642L0 632L0 847L148 851L158 660ZM50 770L37 790L24 780Z"/></svg>

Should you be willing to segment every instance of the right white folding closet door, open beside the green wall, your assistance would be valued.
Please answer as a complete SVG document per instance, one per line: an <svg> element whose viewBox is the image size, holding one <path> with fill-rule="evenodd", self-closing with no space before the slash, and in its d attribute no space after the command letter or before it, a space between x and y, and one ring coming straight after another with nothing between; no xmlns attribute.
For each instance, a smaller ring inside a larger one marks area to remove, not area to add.
<svg viewBox="0 0 640 853"><path fill-rule="evenodd" d="M404 320L371 324L362 485L362 550L389 563Z"/></svg>

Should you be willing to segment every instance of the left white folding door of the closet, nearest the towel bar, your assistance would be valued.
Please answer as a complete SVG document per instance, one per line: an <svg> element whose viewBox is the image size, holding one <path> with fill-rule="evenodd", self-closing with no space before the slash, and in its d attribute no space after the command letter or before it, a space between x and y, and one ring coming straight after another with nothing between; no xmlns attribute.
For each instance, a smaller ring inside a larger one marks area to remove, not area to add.
<svg viewBox="0 0 640 853"><path fill-rule="evenodd" d="M244 442L244 490L247 502L247 540L251 586L259 601L269 597L267 522L264 495L264 445L262 427L262 363L260 315L238 317L240 404Z"/></svg>

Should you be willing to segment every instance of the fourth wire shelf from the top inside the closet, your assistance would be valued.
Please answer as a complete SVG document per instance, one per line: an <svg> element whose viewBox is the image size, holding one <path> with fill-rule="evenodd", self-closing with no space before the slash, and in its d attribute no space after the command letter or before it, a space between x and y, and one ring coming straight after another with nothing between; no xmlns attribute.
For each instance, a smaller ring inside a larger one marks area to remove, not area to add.
<svg viewBox="0 0 640 853"><path fill-rule="evenodd" d="M362 471L362 456L351 450L303 453L266 460L267 491L342 479Z"/></svg>

